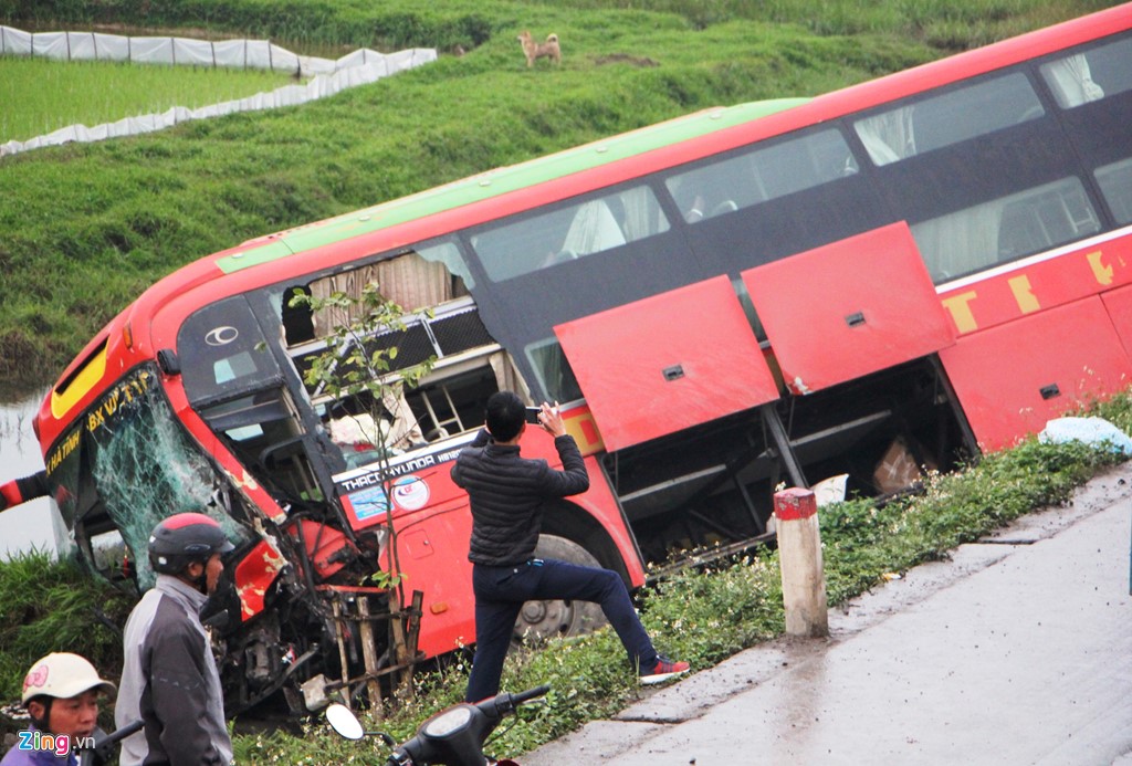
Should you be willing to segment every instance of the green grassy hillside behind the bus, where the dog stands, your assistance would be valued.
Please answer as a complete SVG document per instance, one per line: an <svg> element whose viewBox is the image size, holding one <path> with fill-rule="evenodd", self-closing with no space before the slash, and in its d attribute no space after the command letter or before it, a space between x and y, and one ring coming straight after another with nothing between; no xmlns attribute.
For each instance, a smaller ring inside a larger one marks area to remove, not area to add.
<svg viewBox="0 0 1132 766"><path fill-rule="evenodd" d="M816 95L1103 5L0 0L14 26L444 54L302 107L0 161L0 384L53 380L147 285L245 239L705 106ZM525 67L523 28L560 36L560 69Z"/></svg>

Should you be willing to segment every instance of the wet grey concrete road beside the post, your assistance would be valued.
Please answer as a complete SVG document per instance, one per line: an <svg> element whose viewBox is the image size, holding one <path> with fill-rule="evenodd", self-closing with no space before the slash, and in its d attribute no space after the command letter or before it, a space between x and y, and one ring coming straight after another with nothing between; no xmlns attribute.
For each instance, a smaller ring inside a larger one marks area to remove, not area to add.
<svg viewBox="0 0 1132 766"><path fill-rule="evenodd" d="M1132 465L523 766L1132 766Z"/></svg>

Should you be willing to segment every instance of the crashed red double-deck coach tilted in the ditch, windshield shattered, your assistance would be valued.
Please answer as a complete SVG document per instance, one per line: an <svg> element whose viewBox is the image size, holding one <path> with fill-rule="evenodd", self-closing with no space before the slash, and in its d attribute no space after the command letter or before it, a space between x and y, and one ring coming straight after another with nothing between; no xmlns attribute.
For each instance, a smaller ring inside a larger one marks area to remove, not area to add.
<svg viewBox="0 0 1132 766"><path fill-rule="evenodd" d="M281 689L301 709L355 672L332 606L380 566L388 514L422 654L473 640L448 468L496 390L563 403L591 474L548 509L542 550L640 586L674 551L769 539L783 483L899 491L1124 389L1129 126L1124 5L245 242L151 287L63 372L36 419L41 480L127 587L148 586L164 515L222 519L228 711ZM329 322L289 301L372 282L412 316L369 341L437 360L381 403L384 471L336 428L375 403L303 384ZM540 434L524 451L556 459ZM586 619L558 603L521 621Z"/></svg>

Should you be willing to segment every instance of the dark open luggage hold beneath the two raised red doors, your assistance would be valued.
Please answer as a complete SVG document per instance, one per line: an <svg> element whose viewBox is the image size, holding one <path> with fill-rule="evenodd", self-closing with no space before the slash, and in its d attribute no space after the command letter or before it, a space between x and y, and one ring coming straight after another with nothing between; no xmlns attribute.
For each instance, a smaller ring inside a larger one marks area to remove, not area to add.
<svg viewBox="0 0 1132 766"><path fill-rule="evenodd" d="M841 497L884 496L977 454L927 358L629 447L603 465L645 560L663 562L772 537L782 485L833 479Z"/></svg>

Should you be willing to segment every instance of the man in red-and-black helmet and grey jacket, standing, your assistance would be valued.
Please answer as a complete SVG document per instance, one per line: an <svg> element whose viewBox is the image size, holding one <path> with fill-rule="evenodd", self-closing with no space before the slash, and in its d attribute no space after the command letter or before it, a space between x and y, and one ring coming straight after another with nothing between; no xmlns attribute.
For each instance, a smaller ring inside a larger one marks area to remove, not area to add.
<svg viewBox="0 0 1132 766"><path fill-rule="evenodd" d="M119 728L145 728L122 740L122 766L230 764L220 673L200 609L232 550L220 524L204 514L177 514L149 535L157 582L126 622Z"/></svg>

